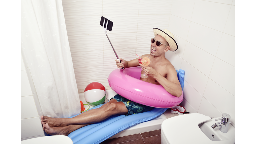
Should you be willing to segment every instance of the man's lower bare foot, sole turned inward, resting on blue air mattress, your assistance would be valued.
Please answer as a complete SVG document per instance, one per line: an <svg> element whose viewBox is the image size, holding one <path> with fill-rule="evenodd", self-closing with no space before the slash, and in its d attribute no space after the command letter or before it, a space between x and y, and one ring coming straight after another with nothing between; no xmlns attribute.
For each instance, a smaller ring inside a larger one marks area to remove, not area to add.
<svg viewBox="0 0 256 144"><path fill-rule="evenodd" d="M50 127L47 123L43 125L43 129L49 135L68 135L68 133L65 130L65 127Z"/></svg>

